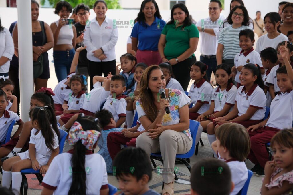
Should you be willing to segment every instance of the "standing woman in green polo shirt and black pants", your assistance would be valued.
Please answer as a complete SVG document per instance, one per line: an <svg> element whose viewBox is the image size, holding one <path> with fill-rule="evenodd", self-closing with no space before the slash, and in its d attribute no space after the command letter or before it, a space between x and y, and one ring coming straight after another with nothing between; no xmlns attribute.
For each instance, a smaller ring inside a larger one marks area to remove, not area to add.
<svg viewBox="0 0 293 195"><path fill-rule="evenodd" d="M185 91L190 81L189 67L196 61L198 39L199 32L190 20L187 7L174 5L171 20L162 30L158 50L162 61L172 65L172 75Z"/></svg>

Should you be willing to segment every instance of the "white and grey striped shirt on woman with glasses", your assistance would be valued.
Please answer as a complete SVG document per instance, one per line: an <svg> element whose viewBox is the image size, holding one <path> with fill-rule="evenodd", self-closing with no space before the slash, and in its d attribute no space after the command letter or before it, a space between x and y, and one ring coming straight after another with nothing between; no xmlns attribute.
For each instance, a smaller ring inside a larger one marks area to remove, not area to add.
<svg viewBox="0 0 293 195"><path fill-rule="evenodd" d="M223 28L219 37L219 44L224 45L223 60L234 59L235 55L241 52L239 46L239 33L241 30L250 29L248 26L241 26L239 28L232 28L228 26Z"/></svg>

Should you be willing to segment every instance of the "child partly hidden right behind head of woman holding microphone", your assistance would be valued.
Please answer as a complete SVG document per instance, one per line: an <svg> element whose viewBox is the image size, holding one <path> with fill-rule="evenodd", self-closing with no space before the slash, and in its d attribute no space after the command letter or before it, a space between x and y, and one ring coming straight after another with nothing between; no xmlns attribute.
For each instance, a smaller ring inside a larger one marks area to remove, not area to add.
<svg viewBox="0 0 293 195"><path fill-rule="evenodd" d="M172 76L172 66L167 62L163 62L163 63L159 64L159 66L163 70L163 73L164 73L164 77L166 80L166 88L178 89L178 90L184 92L180 83L175 78L171 77Z"/></svg>

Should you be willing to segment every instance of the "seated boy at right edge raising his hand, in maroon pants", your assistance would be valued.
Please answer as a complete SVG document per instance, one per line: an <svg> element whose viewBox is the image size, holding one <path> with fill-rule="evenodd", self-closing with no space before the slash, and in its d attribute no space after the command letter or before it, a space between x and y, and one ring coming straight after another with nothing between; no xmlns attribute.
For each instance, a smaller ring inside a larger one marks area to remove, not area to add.
<svg viewBox="0 0 293 195"><path fill-rule="evenodd" d="M292 128L293 120L293 69L286 56L289 54L288 48L280 47L280 53L284 59L285 66L277 69L277 85L280 92L272 100L270 107L270 116L263 122L247 128L251 140L251 152L248 159L255 164L251 169L256 176L263 177L265 163L269 156L266 152L265 144L269 143L271 138L280 129Z"/></svg>

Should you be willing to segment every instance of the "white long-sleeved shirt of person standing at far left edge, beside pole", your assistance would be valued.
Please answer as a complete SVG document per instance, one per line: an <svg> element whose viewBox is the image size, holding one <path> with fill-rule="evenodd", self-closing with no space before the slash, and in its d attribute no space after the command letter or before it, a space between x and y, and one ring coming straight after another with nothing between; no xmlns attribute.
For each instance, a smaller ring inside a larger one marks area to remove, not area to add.
<svg viewBox="0 0 293 195"><path fill-rule="evenodd" d="M0 73L8 73L13 54L14 45L11 34L8 29L4 28L4 30L0 32L0 57L6 57L9 60L0 66Z"/></svg>

